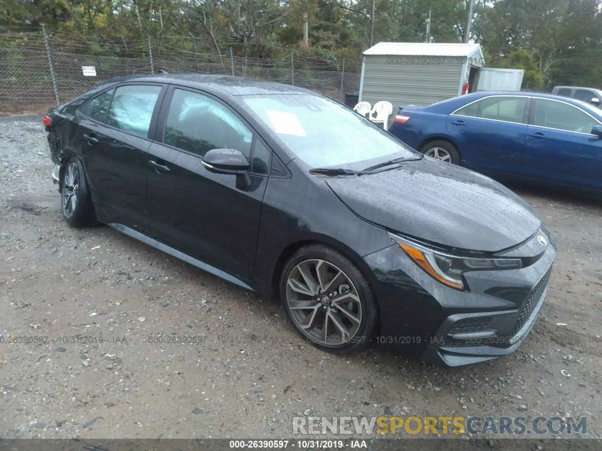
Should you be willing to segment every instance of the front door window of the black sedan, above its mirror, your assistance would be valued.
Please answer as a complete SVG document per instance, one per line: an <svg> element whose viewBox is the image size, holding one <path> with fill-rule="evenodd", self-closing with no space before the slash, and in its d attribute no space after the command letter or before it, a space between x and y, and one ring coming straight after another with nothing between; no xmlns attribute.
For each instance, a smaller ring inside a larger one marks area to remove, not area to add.
<svg viewBox="0 0 602 451"><path fill-rule="evenodd" d="M204 156L211 149L235 149L250 159L253 133L221 103L175 89L167 114L164 143Z"/></svg>

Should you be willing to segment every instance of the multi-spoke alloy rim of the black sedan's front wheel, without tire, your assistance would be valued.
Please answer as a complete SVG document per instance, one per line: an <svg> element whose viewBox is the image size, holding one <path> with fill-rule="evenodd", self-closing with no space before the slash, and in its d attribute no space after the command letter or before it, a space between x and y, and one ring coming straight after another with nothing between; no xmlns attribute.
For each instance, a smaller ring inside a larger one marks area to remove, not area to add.
<svg viewBox="0 0 602 451"><path fill-rule="evenodd" d="M362 323L362 304L350 278L325 260L305 260L287 280L291 318L312 342L342 345Z"/></svg>

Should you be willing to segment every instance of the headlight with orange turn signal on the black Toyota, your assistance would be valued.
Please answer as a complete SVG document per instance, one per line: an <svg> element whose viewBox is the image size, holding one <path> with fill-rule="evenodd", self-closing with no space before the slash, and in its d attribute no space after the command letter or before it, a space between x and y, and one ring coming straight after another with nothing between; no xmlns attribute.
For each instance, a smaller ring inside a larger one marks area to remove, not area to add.
<svg viewBox="0 0 602 451"><path fill-rule="evenodd" d="M482 259L470 257L458 257L430 249L422 244L409 241L393 233L387 232L395 244L408 254L414 262L429 273L439 282L464 290L462 274L467 271L490 271L492 269L518 269L522 268L521 259Z"/></svg>

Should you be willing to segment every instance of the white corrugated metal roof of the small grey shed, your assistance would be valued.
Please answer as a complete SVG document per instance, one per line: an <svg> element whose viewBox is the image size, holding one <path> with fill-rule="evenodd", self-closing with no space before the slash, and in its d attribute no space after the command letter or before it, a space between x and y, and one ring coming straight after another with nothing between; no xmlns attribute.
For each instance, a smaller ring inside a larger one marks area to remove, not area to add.
<svg viewBox="0 0 602 451"><path fill-rule="evenodd" d="M426 42L379 42L364 55L412 55L428 57L471 57L482 55L480 44L443 44Z"/></svg>

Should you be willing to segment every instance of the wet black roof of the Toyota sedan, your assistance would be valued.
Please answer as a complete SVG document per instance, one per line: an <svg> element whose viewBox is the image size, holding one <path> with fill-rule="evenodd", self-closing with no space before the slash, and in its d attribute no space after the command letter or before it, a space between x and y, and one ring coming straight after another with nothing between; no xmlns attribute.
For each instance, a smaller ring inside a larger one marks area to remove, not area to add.
<svg viewBox="0 0 602 451"><path fill-rule="evenodd" d="M255 78L234 77L230 75L205 75L200 73L182 73L144 76L128 76L107 80L108 83L140 81L140 82L162 82L190 88L199 88L209 93L221 96L252 96L261 94L319 94L305 88L293 85L285 85L272 81L263 81Z"/></svg>

